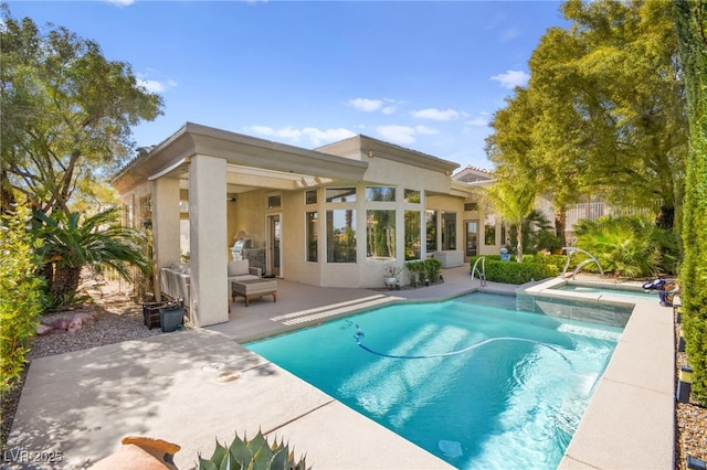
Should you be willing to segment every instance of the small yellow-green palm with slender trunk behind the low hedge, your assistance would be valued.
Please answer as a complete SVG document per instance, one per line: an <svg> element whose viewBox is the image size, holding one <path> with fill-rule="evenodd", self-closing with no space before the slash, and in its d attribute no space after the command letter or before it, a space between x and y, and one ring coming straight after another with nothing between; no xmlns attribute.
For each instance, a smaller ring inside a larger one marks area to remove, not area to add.
<svg viewBox="0 0 707 470"><path fill-rule="evenodd" d="M494 211L514 224L518 231L516 260L523 261L523 222L535 206L535 191L529 185L511 185L508 181L497 181L487 193Z"/></svg>

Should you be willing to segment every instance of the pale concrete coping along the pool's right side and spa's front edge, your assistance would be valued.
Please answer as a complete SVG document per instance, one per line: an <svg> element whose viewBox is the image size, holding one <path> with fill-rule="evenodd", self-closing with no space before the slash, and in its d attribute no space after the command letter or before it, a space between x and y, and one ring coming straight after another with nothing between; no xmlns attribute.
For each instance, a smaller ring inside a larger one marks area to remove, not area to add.
<svg viewBox="0 0 707 470"><path fill-rule="evenodd" d="M634 308L558 469L675 468L673 309L657 298L551 290L566 281L552 278L524 290Z"/></svg>

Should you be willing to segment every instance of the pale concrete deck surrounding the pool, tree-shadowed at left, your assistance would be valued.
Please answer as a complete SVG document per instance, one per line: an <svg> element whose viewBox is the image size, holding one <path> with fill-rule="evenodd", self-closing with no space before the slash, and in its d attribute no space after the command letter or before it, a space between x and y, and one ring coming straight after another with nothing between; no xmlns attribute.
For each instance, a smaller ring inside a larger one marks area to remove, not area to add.
<svg viewBox="0 0 707 470"><path fill-rule="evenodd" d="M468 265L443 275L444 284L400 291L278 280L277 302L264 298L246 308L240 299L228 323L34 360L10 450L61 452L63 461L3 463L88 468L117 450L123 437L138 435L181 446L175 462L187 469L199 452L211 455L214 439L230 442L235 431L253 436L260 429L287 440L296 456L306 453L315 469L451 468L239 344L388 301L442 299L478 287ZM489 285L494 291L516 288ZM643 303L560 468L674 468L672 309ZM239 378L220 381L224 373Z"/></svg>

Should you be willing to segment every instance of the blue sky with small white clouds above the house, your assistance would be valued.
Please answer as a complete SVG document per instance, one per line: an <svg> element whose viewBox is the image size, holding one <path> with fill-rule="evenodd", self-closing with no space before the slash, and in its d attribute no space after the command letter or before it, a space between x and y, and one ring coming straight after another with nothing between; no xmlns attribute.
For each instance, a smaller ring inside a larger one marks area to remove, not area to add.
<svg viewBox="0 0 707 470"><path fill-rule="evenodd" d="M134 128L191 121L314 149L357 133L490 169L493 114L528 79L557 1L10 1L66 26L165 99Z"/></svg>

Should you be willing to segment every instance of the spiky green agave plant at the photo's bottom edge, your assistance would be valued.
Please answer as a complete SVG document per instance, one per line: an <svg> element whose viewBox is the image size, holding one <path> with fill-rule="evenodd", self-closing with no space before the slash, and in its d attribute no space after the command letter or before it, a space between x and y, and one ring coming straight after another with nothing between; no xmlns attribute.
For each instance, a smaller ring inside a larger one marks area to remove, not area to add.
<svg viewBox="0 0 707 470"><path fill-rule="evenodd" d="M283 441L268 444L261 431L249 440L238 434L229 447L217 440L217 448L210 459L199 455L199 470L307 470L305 457L295 461L294 451L289 451Z"/></svg>

